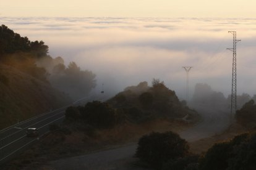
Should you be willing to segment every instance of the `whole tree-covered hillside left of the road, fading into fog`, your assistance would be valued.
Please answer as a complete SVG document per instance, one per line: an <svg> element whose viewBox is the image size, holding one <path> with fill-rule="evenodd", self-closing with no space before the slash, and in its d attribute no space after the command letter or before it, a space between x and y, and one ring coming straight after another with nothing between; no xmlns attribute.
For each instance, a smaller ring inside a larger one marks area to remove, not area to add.
<svg viewBox="0 0 256 170"><path fill-rule="evenodd" d="M75 62L66 67L48 51L45 42L0 26L0 129L67 105L96 86L92 71Z"/></svg>

